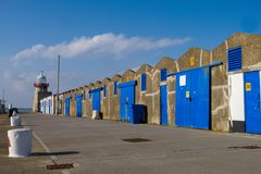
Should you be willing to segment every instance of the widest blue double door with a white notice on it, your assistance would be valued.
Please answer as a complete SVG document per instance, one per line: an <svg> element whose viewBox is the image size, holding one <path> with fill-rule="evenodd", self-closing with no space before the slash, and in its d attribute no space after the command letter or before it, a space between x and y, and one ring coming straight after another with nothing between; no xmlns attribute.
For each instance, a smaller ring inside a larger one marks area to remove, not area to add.
<svg viewBox="0 0 261 174"><path fill-rule="evenodd" d="M210 128L210 69L176 75L176 125Z"/></svg>

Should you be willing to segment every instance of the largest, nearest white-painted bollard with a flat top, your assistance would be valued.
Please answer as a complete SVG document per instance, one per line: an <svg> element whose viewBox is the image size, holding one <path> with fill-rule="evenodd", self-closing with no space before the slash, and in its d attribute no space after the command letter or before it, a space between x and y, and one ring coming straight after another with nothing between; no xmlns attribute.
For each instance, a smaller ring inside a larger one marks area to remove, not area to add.
<svg viewBox="0 0 261 174"><path fill-rule="evenodd" d="M16 128L8 130L9 157L28 157L32 150L32 129Z"/></svg>

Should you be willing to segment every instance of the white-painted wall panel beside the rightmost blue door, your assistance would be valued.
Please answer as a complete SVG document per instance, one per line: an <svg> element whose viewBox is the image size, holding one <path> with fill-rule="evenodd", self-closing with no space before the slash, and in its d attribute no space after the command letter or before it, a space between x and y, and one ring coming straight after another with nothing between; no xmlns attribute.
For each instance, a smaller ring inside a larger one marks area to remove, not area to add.
<svg viewBox="0 0 261 174"><path fill-rule="evenodd" d="M245 121L244 75L228 75L229 115L232 121Z"/></svg>

